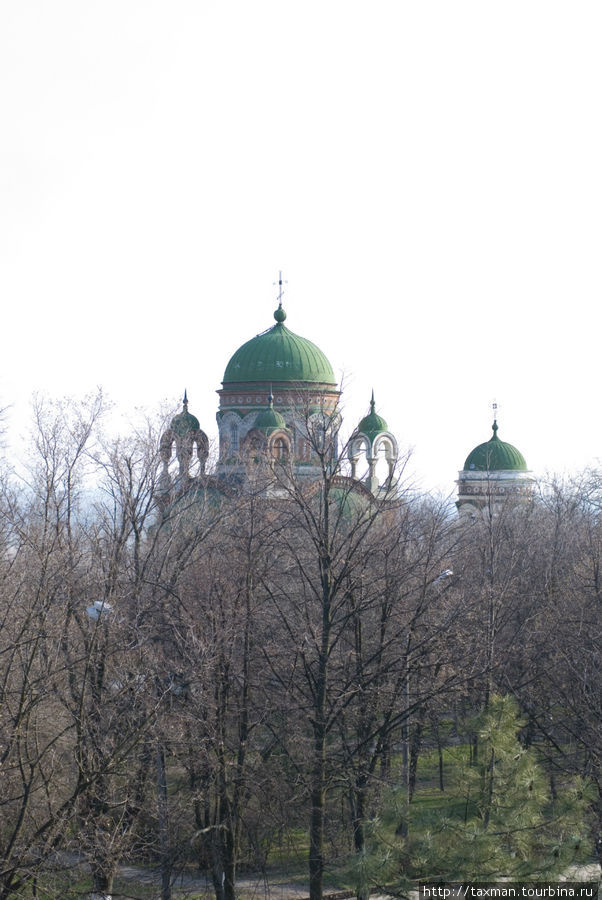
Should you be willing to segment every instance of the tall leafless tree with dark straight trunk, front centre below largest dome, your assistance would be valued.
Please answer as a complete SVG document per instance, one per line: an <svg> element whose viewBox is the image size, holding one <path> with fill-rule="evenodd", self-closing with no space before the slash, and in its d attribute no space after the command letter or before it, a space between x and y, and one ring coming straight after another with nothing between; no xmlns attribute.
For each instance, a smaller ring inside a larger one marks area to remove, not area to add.
<svg viewBox="0 0 602 900"><path fill-rule="evenodd" d="M357 670L348 665L348 642L354 633L357 638L358 623L372 614L379 597L378 590L362 589L362 579L368 571L374 573L367 560L386 531L387 516L394 516L404 502L392 479L377 500L342 474L338 425L336 409L308 411L303 423L319 472L316 480L304 484L290 477L286 466L276 471L286 500L279 527L279 575L266 585L282 645L279 654L266 656L266 664L280 692L294 698L297 718L305 724L296 747L301 755L295 756L310 804L312 900L322 897L327 795L337 769L330 741L361 691ZM382 584L380 576L375 581ZM389 645L390 636L385 640ZM366 670L370 683L378 677ZM391 678L395 680L393 673Z"/></svg>

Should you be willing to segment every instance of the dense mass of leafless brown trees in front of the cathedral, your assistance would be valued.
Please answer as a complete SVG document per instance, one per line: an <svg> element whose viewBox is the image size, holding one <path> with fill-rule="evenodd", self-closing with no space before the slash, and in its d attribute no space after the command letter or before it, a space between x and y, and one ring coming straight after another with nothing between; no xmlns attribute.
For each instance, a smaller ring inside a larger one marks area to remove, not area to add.
<svg viewBox="0 0 602 900"><path fill-rule="evenodd" d="M163 900L186 867L233 900L241 870L299 859L312 900L335 877L365 897L353 873L393 795L391 879L418 857L435 874L443 846L452 871L422 771L441 797L464 790L458 840L491 831L502 773L517 816L525 779L538 799L510 850L524 870L553 853L554 803L578 819L558 858L592 852L598 473L459 522L403 473L375 501L326 423L315 482L251 454L244 490L199 476L166 507L161 423L108 441L102 414L101 397L38 404L27 470L2 477L0 900L70 896L64 854L95 897L124 861L160 869ZM487 837L474 858L493 871Z"/></svg>

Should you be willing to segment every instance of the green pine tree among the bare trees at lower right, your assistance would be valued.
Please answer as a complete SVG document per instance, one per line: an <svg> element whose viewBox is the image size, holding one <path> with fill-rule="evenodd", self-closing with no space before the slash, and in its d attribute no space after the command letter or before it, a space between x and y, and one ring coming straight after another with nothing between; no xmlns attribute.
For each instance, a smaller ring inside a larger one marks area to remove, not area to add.
<svg viewBox="0 0 602 900"><path fill-rule="evenodd" d="M403 895L418 880L548 879L588 857L589 787L575 780L552 798L536 751L520 744L522 724L512 697L492 696L477 723L479 764L458 767L434 819L419 796L409 817L401 793L390 798L357 865L362 889Z"/></svg>

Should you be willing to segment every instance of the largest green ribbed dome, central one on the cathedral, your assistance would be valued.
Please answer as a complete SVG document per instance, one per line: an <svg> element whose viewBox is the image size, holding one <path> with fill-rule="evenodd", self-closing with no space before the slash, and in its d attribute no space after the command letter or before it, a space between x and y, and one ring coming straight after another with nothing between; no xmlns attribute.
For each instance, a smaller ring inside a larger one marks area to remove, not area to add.
<svg viewBox="0 0 602 900"><path fill-rule="evenodd" d="M336 385L332 366L315 344L289 331L278 307L276 324L236 351L224 372L224 385L238 382L311 382Z"/></svg>

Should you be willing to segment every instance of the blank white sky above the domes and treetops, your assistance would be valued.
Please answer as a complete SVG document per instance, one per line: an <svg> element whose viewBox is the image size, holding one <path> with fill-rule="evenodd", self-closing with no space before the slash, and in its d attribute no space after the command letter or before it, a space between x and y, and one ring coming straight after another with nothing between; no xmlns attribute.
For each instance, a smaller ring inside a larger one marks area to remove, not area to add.
<svg viewBox="0 0 602 900"><path fill-rule="evenodd" d="M0 401L102 384L210 437L287 325L426 488L602 455L602 4L5 0Z"/></svg>

